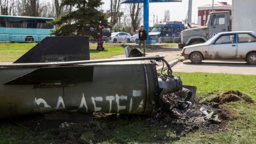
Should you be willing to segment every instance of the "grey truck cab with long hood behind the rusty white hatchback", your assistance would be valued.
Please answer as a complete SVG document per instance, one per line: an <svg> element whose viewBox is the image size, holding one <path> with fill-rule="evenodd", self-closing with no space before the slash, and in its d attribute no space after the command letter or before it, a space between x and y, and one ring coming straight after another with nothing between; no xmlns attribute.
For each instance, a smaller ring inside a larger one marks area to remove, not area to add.
<svg viewBox="0 0 256 144"><path fill-rule="evenodd" d="M205 26L181 31L179 48L204 43L216 34L225 31L231 31L230 12L211 12Z"/></svg>

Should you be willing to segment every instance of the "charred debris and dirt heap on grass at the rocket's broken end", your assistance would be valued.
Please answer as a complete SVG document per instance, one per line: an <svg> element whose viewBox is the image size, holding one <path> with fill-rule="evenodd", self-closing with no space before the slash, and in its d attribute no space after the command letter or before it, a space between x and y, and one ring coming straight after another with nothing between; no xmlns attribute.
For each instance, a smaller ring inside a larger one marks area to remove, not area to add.
<svg viewBox="0 0 256 144"><path fill-rule="evenodd" d="M177 135L185 136L186 133L202 130L209 133L227 131L226 124L233 119L244 119L236 116L220 105L231 101L243 100L252 103L253 100L247 94L231 90L202 103L184 102L177 93L165 94L163 98L171 101L172 105L159 108L148 121L159 127L170 127Z"/></svg>

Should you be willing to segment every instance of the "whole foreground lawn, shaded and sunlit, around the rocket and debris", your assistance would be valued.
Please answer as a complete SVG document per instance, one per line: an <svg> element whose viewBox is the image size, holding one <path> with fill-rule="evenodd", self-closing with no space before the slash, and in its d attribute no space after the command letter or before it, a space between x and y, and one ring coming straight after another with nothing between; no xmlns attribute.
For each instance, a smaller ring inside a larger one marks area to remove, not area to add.
<svg viewBox="0 0 256 144"><path fill-rule="evenodd" d="M209 74L209 73L175 73L182 78L183 84L197 86L196 99L209 99L207 93L215 96L227 90L238 90L249 94L256 101L256 76ZM0 124L0 143L62 143L63 140L77 143L80 141L101 143L255 143L256 105L243 101L230 102L222 108L233 111L245 119L229 121L227 132L205 133L197 131L186 134L177 140L169 128L152 126L143 116L102 119L90 124L90 129L68 127L61 130L48 130L34 133L12 123ZM211 137L211 138L210 138Z"/></svg>

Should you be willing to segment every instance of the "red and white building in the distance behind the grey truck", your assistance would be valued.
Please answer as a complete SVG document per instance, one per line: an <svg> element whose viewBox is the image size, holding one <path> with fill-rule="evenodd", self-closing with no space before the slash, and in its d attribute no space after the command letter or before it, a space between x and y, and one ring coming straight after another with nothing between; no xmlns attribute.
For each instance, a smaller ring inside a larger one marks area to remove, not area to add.
<svg viewBox="0 0 256 144"><path fill-rule="evenodd" d="M227 2L216 2L213 4L213 11L230 11L232 10L232 5L229 5ZM204 26L208 20L209 13L212 12L212 4L207 4L198 7L198 22L197 25Z"/></svg>

